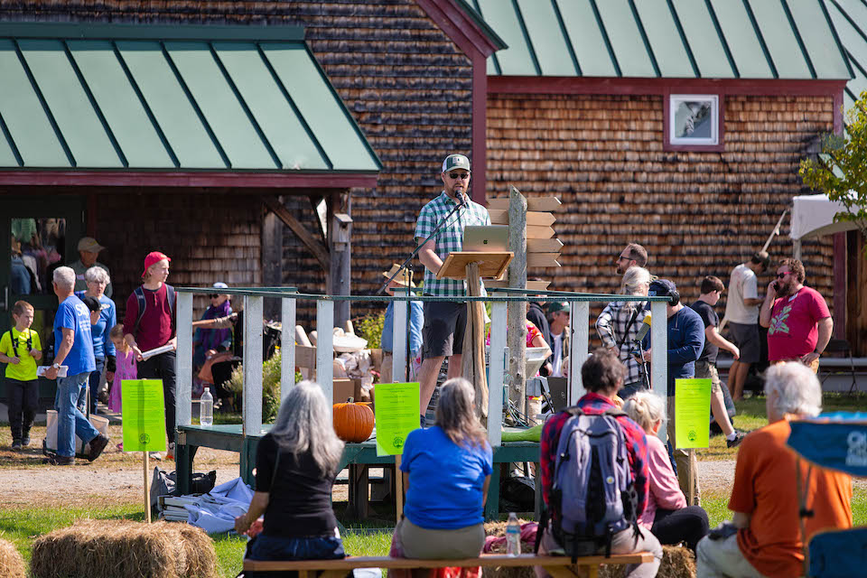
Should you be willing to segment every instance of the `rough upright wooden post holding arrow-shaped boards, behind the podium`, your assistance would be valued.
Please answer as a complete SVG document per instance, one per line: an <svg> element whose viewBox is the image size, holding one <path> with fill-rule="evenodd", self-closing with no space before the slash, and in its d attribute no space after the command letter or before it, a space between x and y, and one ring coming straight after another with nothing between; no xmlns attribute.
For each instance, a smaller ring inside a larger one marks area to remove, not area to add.
<svg viewBox="0 0 867 578"><path fill-rule="evenodd" d="M508 190L508 250L515 254L508 266L508 286L527 288L527 199L515 187ZM527 407L527 302L508 303L506 329L508 373L512 377L508 399L520 412Z"/></svg>

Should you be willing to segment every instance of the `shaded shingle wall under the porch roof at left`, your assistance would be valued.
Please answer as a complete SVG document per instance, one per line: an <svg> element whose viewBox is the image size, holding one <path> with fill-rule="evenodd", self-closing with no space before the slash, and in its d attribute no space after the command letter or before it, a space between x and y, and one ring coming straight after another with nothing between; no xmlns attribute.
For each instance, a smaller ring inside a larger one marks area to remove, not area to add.
<svg viewBox="0 0 867 578"><path fill-rule="evenodd" d="M141 284L144 256L151 251L172 257L168 282L174 286L262 282L262 218L255 196L113 191L98 195L97 207L97 239L107 246L100 261L111 269L118 316ZM205 297L193 303L197 319L209 303Z"/></svg>

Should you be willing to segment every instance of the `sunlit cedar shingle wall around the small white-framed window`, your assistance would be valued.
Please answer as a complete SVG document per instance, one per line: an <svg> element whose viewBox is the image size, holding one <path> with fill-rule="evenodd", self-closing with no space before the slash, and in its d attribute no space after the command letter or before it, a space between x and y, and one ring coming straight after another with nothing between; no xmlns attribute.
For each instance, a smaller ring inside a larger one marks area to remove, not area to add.
<svg viewBox="0 0 867 578"><path fill-rule="evenodd" d="M728 284L791 198L810 192L798 163L816 134L832 130L833 109L830 97L726 97L725 152L670 153L658 96L491 95L489 195L513 184L563 201L554 225L562 267L529 272L554 275L553 289L615 292L612 260L637 241L651 273L674 280L691 303L704 275ZM774 259L792 254L788 219L782 231L769 247ZM803 255L806 283L833 304L831 238L805 243Z"/></svg>

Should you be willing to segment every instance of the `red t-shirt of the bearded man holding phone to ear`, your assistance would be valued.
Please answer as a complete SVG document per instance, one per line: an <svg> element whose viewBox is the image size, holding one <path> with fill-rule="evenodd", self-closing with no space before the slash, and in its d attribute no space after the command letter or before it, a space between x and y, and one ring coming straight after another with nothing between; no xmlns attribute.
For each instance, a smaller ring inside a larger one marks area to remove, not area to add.
<svg viewBox="0 0 867 578"><path fill-rule="evenodd" d="M816 323L831 317L828 304L816 289L801 287L797 294L781 297L770 309L768 359L797 359L816 350Z"/></svg>

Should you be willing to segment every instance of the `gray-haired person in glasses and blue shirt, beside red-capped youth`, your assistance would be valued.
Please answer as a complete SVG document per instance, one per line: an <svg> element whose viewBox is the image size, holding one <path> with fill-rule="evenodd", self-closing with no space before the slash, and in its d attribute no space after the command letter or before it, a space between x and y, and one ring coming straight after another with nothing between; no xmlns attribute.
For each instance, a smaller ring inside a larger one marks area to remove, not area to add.
<svg viewBox="0 0 867 578"><path fill-rule="evenodd" d="M102 370L106 370L106 381L111 383L115 378L117 368L115 358L115 344L108 337L108 331L117 325L117 308L115 302L106 296L106 287L111 283L108 272L100 266L92 266L84 272L84 280L88 284L85 291L76 292L76 296L93 297L99 302L100 310L98 321L90 328L90 338L93 343L93 358L97 368L90 373L89 387L81 389L79 396L79 410L85 411L86 399L90 393L90 413L97 413L97 397L99 379L102 378Z"/></svg>

